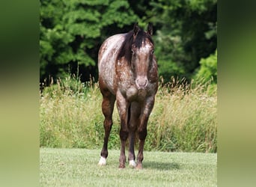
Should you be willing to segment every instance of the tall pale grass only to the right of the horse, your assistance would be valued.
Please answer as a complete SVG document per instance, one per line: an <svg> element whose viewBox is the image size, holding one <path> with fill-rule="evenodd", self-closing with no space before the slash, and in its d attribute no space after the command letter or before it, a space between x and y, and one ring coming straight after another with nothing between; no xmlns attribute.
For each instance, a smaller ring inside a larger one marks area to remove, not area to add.
<svg viewBox="0 0 256 187"><path fill-rule="evenodd" d="M216 86L171 79L150 116L148 149L217 152Z"/></svg>

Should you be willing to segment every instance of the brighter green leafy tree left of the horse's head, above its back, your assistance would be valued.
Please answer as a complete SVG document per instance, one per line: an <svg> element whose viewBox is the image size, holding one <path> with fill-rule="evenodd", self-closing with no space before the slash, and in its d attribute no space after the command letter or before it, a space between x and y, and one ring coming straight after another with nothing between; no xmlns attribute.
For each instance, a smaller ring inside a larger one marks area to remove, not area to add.
<svg viewBox="0 0 256 187"><path fill-rule="evenodd" d="M100 44L136 19L127 1L40 1L40 81L78 68L84 79L96 75Z"/></svg>

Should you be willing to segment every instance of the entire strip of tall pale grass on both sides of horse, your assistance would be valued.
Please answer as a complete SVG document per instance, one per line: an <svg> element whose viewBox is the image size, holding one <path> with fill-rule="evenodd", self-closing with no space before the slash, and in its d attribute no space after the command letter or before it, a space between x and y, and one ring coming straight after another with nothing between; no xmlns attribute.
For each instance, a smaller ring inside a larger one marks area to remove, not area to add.
<svg viewBox="0 0 256 187"><path fill-rule="evenodd" d="M40 147L98 149L103 145L102 96L97 82L76 76L58 80L40 93ZM217 151L216 86L171 79L160 82L147 125L145 150ZM109 148L119 149L115 107Z"/></svg>

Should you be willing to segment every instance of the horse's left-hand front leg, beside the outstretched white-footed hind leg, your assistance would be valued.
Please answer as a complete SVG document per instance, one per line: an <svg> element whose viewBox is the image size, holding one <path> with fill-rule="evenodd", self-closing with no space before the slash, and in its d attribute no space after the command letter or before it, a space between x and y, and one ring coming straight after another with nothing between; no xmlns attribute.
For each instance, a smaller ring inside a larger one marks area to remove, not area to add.
<svg viewBox="0 0 256 187"><path fill-rule="evenodd" d="M121 120L121 128L120 128L120 140L121 140L121 153L119 159L119 168L125 168L126 156L125 156L125 143L127 141L129 135L129 129L127 126L127 118L128 118L128 105L129 102L120 91L117 92L117 106L118 112Z"/></svg>

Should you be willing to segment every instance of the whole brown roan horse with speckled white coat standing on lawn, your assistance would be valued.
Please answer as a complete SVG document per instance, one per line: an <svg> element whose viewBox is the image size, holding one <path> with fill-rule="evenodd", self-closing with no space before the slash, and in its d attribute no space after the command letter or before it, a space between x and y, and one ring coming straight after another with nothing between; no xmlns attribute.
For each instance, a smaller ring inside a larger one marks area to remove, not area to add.
<svg viewBox="0 0 256 187"><path fill-rule="evenodd" d="M105 136L98 165L106 165L109 133L112 129L112 114L116 100L121 121L119 168L125 168L125 146L129 137L129 165L132 168L142 169L147 121L158 89L158 71L156 56L153 54L152 34L151 23L148 23L147 31L144 31L136 22L132 31L112 35L100 46L98 81L103 95ZM138 135L137 163L134 152L135 133Z"/></svg>

